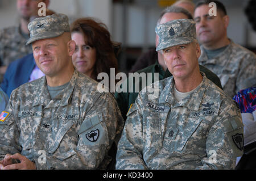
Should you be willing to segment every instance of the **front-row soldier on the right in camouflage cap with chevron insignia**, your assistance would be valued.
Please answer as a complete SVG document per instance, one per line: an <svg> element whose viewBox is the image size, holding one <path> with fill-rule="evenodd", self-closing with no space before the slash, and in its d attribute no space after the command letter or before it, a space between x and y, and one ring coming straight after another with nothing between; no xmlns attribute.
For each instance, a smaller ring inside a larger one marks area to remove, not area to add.
<svg viewBox="0 0 256 181"><path fill-rule="evenodd" d="M200 74L195 22L172 20L157 26L156 33L156 50L163 51L173 77L152 84L158 97L139 93L127 113L116 168L234 169L243 153L241 113ZM180 99L175 90L185 96Z"/></svg>

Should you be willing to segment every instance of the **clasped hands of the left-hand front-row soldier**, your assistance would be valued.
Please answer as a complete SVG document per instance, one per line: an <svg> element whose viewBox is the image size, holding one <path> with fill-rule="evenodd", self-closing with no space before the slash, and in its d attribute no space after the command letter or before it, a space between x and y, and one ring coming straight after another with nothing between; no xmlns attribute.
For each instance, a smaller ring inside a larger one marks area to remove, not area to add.
<svg viewBox="0 0 256 181"><path fill-rule="evenodd" d="M19 159L20 163L13 163L11 162L12 159ZM2 170L36 170L35 163L31 162L27 157L19 153L16 153L14 155L8 154L1 162L0 164L4 166L2 167Z"/></svg>

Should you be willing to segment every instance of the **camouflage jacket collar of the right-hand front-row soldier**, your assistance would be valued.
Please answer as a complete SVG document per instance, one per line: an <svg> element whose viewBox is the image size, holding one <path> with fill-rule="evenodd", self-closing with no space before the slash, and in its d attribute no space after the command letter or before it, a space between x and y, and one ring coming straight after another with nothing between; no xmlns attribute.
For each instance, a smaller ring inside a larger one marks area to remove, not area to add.
<svg viewBox="0 0 256 181"><path fill-rule="evenodd" d="M177 102L174 97L174 78L171 77L167 83L167 86L164 87L162 94L159 97L159 103L169 103L173 108L183 106L187 107L189 110L198 111L205 89L208 86L208 81L205 74L203 72L201 72L201 74L203 75L203 82L201 85L198 86L191 95L188 95L183 100L180 100L180 102ZM168 92L168 94L166 94L166 92Z"/></svg>

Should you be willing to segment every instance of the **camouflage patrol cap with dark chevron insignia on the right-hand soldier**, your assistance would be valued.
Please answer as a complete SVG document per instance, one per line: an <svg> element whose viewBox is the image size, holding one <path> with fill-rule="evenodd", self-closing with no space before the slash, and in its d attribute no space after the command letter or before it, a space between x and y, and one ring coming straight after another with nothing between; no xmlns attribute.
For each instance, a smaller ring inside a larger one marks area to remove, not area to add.
<svg viewBox="0 0 256 181"><path fill-rule="evenodd" d="M196 23L191 19L176 19L156 26L159 36L156 51L196 40Z"/></svg>

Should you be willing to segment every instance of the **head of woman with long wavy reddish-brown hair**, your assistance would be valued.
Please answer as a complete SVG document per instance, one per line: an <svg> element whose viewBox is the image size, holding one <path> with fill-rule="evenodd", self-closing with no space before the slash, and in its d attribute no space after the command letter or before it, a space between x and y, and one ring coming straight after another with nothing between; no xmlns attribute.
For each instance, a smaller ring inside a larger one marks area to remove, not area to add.
<svg viewBox="0 0 256 181"><path fill-rule="evenodd" d="M117 54L121 44L111 40L106 25L93 18L80 18L72 23L71 33L76 42L72 56L76 69L98 82L101 81L98 74L105 72L110 82L110 68L115 69L115 75L118 73Z"/></svg>

